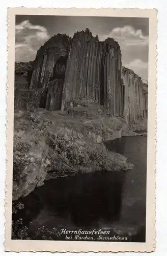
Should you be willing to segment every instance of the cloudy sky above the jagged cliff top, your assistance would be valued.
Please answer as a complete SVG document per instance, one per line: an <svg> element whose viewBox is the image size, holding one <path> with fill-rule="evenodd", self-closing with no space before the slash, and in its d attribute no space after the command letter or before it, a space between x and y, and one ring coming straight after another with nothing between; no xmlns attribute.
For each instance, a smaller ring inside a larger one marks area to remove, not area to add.
<svg viewBox="0 0 167 256"><path fill-rule="evenodd" d="M52 35L73 36L86 28L99 40L117 40L123 66L148 80L148 18L17 15L15 61L34 60L39 47Z"/></svg>

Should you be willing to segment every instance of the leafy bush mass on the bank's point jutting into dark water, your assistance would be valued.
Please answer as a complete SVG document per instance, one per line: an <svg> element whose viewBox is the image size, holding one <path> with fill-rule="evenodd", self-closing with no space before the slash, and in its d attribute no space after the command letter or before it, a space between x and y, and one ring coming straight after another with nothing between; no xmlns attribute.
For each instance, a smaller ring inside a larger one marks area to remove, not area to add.
<svg viewBox="0 0 167 256"><path fill-rule="evenodd" d="M74 134L67 136L64 132L50 133L47 143L50 148L48 155L50 164L47 168L54 172L78 172L84 168L90 172L92 170L112 170L119 165L118 155L117 161L114 157L111 161L103 143L89 144ZM125 157L123 160L126 163ZM122 159L120 163L123 163ZM121 168L121 165L119 167Z"/></svg>

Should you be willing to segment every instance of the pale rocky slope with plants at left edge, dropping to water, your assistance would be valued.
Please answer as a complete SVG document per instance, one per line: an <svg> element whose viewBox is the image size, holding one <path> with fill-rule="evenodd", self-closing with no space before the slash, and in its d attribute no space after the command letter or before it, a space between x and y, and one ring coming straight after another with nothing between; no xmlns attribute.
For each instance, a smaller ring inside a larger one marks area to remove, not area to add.
<svg viewBox="0 0 167 256"><path fill-rule="evenodd" d="M45 119L47 120L47 118ZM46 177L48 155L45 130L34 129L31 115L15 113L13 148L13 200L29 195ZM44 121L45 122L45 121ZM36 123L38 125L38 122ZM40 125L43 125L40 122Z"/></svg>

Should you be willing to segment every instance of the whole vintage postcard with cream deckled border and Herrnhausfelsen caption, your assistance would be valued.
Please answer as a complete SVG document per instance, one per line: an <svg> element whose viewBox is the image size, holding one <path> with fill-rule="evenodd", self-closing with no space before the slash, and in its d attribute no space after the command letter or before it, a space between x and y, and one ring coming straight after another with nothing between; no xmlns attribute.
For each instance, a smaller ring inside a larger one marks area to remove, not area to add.
<svg viewBox="0 0 167 256"><path fill-rule="evenodd" d="M154 250L156 16L8 9L6 251Z"/></svg>

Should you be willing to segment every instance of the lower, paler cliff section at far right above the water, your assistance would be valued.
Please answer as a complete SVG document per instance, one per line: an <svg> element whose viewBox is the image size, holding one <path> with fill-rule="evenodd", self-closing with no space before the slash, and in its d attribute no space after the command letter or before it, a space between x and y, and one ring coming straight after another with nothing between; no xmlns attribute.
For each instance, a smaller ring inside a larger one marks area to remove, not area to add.
<svg viewBox="0 0 167 256"><path fill-rule="evenodd" d="M143 81L132 70L123 67L125 85L125 119L136 121L147 117L147 95Z"/></svg>

